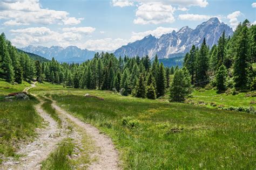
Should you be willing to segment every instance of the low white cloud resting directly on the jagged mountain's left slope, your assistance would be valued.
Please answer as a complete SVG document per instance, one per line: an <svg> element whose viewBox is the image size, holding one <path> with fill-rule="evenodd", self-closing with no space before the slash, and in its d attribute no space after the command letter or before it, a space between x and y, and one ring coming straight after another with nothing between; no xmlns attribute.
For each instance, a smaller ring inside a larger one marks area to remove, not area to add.
<svg viewBox="0 0 256 170"><path fill-rule="evenodd" d="M171 33L172 31L177 31L177 29L174 29L172 27L157 27L155 30L149 30L145 32L132 32L132 37L130 39L130 42L140 40L146 36L149 36L150 34L154 37L161 37L163 34Z"/></svg>

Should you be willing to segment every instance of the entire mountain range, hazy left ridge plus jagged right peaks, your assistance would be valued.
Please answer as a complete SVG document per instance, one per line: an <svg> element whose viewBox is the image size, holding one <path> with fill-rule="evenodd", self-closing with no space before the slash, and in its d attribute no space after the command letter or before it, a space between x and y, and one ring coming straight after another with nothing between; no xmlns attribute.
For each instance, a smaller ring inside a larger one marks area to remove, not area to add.
<svg viewBox="0 0 256 170"><path fill-rule="evenodd" d="M130 42L116 51L114 55L122 56L145 56L149 55L150 59L158 55L159 59L168 59L184 56L186 52L190 51L192 45L200 46L203 39L206 38L208 46L212 47L217 44L221 34L225 31L226 36L232 36L233 30L227 24L221 23L218 18L213 17L206 22L201 23L196 29L191 29L188 26L182 27L178 32L163 34L156 38L151 34L141 40ZM25 52L37 54L52 59L54 57L60 62L83 62L92 59L95 51L87 49L80 49L76 46L69 46L66 48L60 46L43 47L32 46L21 48Z"/></svg>

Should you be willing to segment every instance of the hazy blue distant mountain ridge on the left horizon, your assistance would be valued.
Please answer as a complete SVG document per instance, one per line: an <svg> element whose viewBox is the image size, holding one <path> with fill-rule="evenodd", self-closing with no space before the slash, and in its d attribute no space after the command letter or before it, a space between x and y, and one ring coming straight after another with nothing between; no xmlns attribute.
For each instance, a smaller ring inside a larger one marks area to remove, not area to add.
<svg viewBox="0 0 256 170"><path fill-rule="evenodd" d="M83 62L92 59L96 52L87 49L80 49L76 46L68 46L66 48L60 46L32 46L21 48L25 52L37 54L51 60L53 57L60 62Z"/></svg>

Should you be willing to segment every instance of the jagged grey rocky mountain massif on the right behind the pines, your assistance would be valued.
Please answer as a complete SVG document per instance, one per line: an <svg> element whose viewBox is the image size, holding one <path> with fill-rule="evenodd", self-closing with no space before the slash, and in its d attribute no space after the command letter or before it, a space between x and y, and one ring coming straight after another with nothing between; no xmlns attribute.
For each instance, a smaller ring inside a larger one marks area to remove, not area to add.
<svg viewBox="0 0 256 170"><path fill-rule="evenodd" d="M144 37L142 40L118 48L114 55L140 57L149 55L153 58L157 54L160 59L181 56L188 52L192 45L200 46L204 38L210 47L217 44L224 30L226 36L232 36L232 28L220 23L219 19L214 17L198 25L194 30L185 26L178 32L163 34L160 38L151 35Z"/></svg>

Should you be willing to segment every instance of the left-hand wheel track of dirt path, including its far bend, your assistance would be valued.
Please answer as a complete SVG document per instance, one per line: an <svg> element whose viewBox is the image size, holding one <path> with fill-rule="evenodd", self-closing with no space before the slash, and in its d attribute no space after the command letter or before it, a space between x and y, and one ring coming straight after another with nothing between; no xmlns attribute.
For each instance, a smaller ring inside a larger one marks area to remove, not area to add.
<svg viewBox="0 0 256 170"><path fill-rule="evenodd" d="M35 87L35 83L23 91L28 93L29 89ZM40 162L48 157L60 140L65 138L65 133L62 129L58 128L57 122L42 109L43 101L39 101L40 103L35 105L35 109L44 119L43 123L46 124L46 128L36 129L38 137L29 145L24 146L24 144L21 144L21 149L17 154L25 155L25 157L22 157L18 161L10 159L9 161L3 162L0 169L40 169Z"/></svg>

